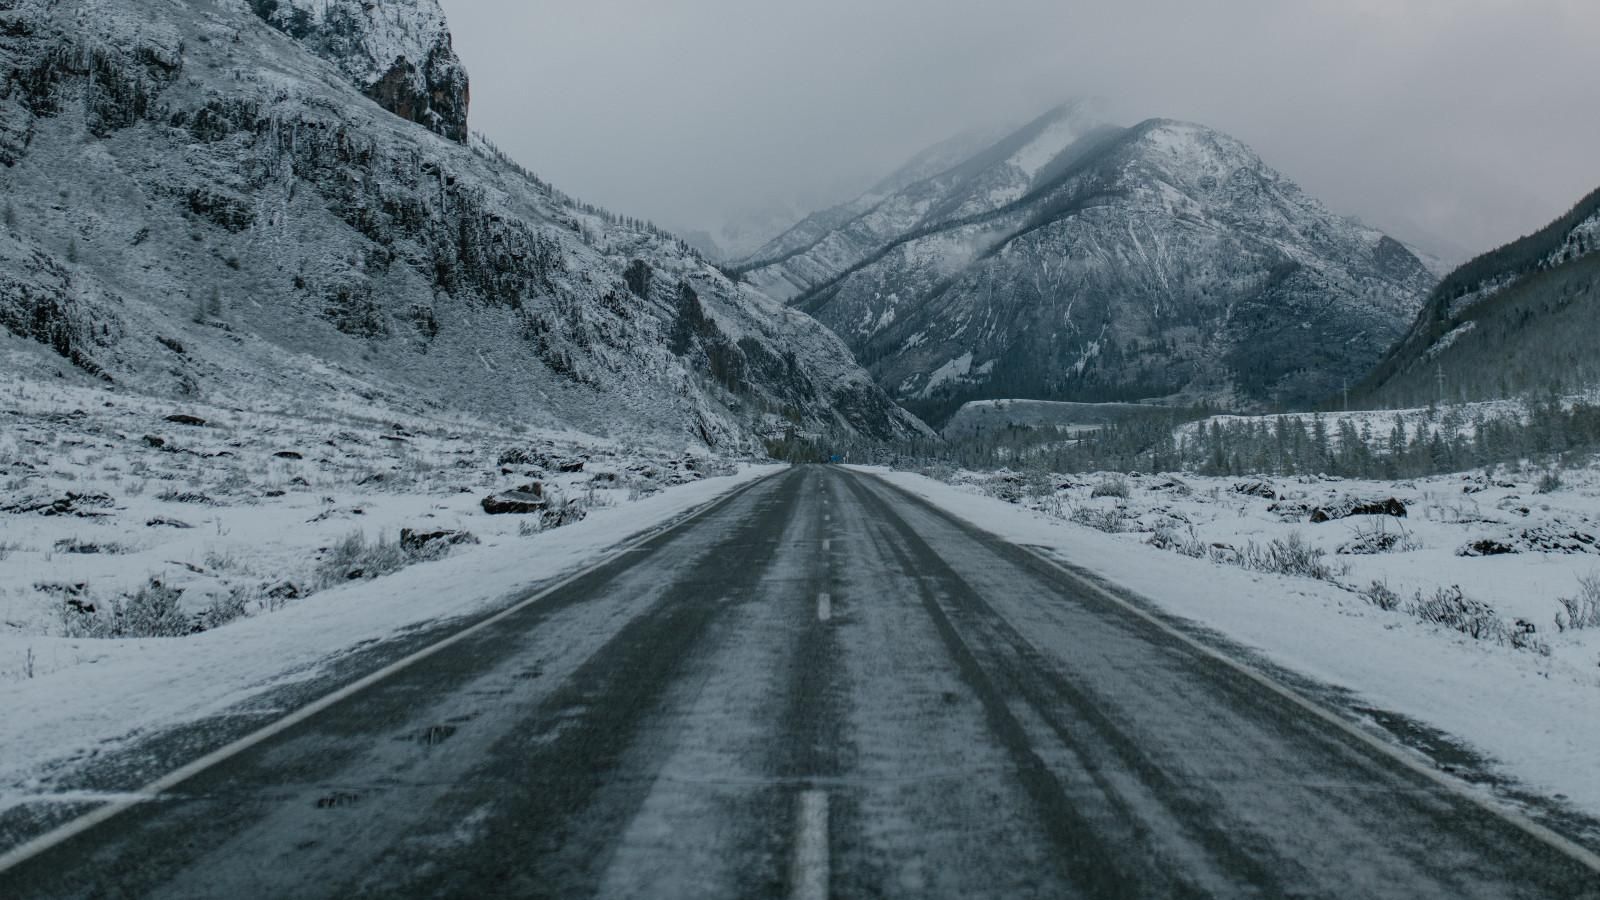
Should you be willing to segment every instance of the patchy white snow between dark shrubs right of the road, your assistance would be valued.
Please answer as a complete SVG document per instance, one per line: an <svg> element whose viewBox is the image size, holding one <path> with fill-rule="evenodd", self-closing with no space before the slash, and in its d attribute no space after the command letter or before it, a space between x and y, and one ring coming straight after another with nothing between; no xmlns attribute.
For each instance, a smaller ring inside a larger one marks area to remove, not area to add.
<svg viewBox="0 0 1600 900"><path fill-rule="evenodd" d="M1422 549L1366 557L1331 557L1349 562L1339 581L1346 586L1248 572L1205 559L1190 559L1149 546L1147 532L1102 533L1061 519L1061 503L1045 498L1034 509L989 496L981 476L955 476L962 484L930 477L872 471L890 482L1014 543L1040 546L1053 556L1123 586L1150 604L1214 629L1261 652L1275 665L1318 682L1346 689L1355 703L1398 713L1432 725L1475 748L1493 761L1498 775L1589 815L1600 814L1600 633L1558 633L1555 597L1578 591L1578 578L1600 570L1600 556L1518 554L1461 559L1454 548L1494 525L1466 519L1565 520L1592 528L1600 520L1600 471L1570 477L1576 488L1526 498L1530 485L1483 487L1461 476L1429 479L1416 485L1352 484L1318 480L1310 485L1278 484L1306 495L1379 495L1413 503L1411 516L1389 525L1403 527ZM1014 477L1014 476L1013 476ZM1189 493L1163 488L1171 477L1134 479L1133 500L1090 500L1088 487L1062 492L1066 503L1126 506L1147 527L1158 517L1190 519L1200 540L1234 541L1286 536L1299 532L1317 546L1333 549L1350 540L1350 520L1325 525L1283 522L1266 511L1267 500L1234 493L1234 480L1182 476ZM1462 488L1480 490L1464 495ZM1051 504L1054 509L1051 511ZM1515 509L1531 508L1526 519ZM1469 597L1488 601L1502 617L1526 618L1550 655L1517 650L1506 644L1472 641L1440 626L1424 625L1402 612L1382 612L1349 586L1387 580L1408 596L1462 585Z"/></svg>

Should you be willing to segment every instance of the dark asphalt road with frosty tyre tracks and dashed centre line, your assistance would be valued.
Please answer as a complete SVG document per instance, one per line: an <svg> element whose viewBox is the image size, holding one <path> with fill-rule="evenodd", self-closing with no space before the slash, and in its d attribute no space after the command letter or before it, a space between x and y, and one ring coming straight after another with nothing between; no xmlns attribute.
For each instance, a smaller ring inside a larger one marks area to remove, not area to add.
<svg viewBox="0 0 1600 900"><path fill-rule="evenodd" d="M1072 575L818 466L0 873L8 900L1597 895Z"/></svg>

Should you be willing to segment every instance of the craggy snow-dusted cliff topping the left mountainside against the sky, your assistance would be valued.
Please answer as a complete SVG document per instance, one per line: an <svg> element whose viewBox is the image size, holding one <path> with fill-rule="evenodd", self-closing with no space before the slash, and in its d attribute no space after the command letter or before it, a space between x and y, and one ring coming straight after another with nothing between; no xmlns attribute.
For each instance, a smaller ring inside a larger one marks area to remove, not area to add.
<svg viewBox="0 0 1600 900"><path fill-rule="evenodd" d="M248 0L400 119L467 141L470 85L438 0Z"/></svg>

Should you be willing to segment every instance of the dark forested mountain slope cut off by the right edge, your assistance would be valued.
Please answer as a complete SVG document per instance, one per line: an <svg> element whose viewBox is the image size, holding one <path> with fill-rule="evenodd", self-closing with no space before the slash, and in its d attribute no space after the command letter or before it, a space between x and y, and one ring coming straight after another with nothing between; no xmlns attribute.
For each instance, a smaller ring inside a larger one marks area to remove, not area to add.
<svg viewBox="0 0 1600 900"><path fill-rule="evenodd" d="M1362 384L1378 404L1506 399L1600 383L1600 191L1451 272Z"/></svg>

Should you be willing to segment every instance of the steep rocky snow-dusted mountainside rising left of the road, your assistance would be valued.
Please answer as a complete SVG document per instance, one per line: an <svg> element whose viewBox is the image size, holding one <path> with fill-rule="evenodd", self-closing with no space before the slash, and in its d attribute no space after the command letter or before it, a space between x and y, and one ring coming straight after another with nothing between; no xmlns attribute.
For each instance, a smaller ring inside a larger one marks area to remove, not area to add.
<svg viewBox="0 0 1600 900"><path fill-rule="evenodd" d="M11 365L715 445L922 428L814 320L470 138L437 0L0 0L0 78Z"/></svg>

